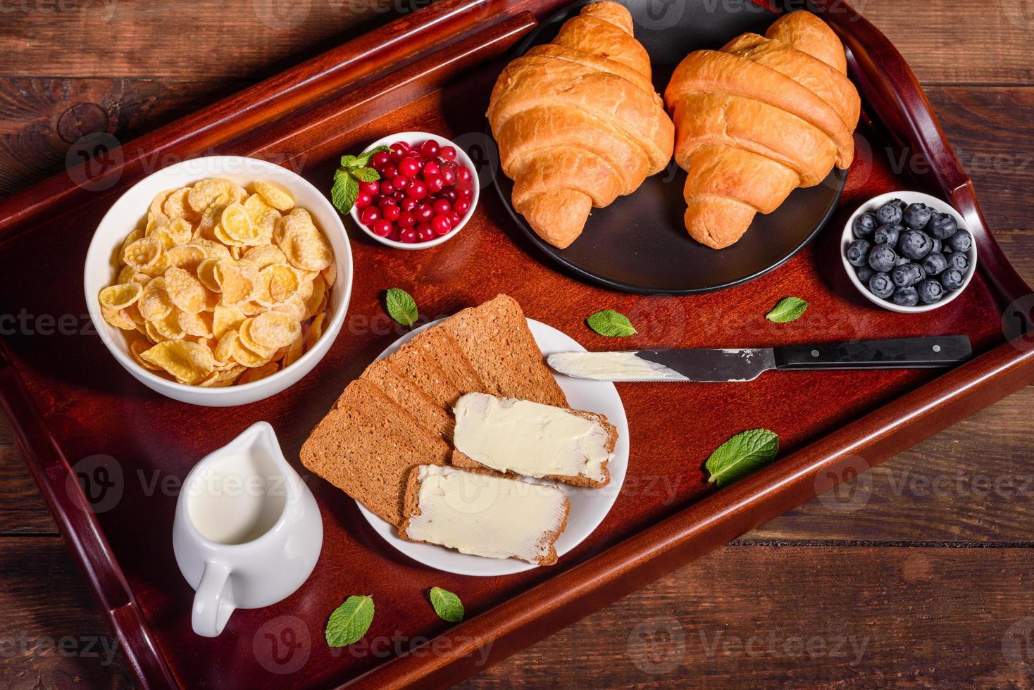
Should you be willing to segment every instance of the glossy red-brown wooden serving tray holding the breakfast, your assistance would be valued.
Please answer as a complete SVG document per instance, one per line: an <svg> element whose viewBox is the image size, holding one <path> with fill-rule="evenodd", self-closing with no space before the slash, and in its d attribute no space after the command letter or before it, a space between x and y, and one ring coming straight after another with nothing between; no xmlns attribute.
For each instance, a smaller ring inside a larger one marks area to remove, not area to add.
<svg viewBox="0 0 1034 690"><path fill-rule="evenodd" d="M0 341L0 402L142 686L452 684L1034 381L1034 349L1008 342L1002 326L1003 310L1011 323L1017 305L1029 307L1022 299L1030 288L986 228L911 70L882 34L837 0L811 7L849 49L868 117L857 134L860 155L827 230L754 282L690 297L587 286L541 263L500 201L486 193L468 226L434 249L392 251L353 232L345 326L313 373L270 400L222 409L168 400L123 372L89 332L86 248L128 185L156 167L218 152L274 160L329 188L342 152L414 129L458 138L474 156L490 154L482 114L500 60L561 4L443 0L0 202L2 313L19 318L18 333ZM884 152L896 159L902 147L927 163L910 166L922 175L895 177ZM842 275L839 226L870 196L917 187L966 217L980 272L934 312L877 310ZM273 424L298 466L298 448L341 388L401 335L379 304L392 285L416 295L428 319L508 292L529 317L589 349L613 347L582 323L611 307L639 327L639 336L620 343L627 348L960 333L970 336L977 356L947 373L619 384L632 453L612 512L557 565L504 577L452 575L406 560L351 499L299 466L324 514L324 551L311 578L275 606L238 610L220 637L194 635L193 593L172 551L178 482L201 457L260 419ZM811 303L805 316L792 324L766 321L763 315L788 294ZM754 427L779 433L781 459L716 492L703 461ZM425 598L432 586L462 597L465 622L450 626L435 617ZM349 594L374 596L373 625L365 641L329 649L327 617Z"/></svg>

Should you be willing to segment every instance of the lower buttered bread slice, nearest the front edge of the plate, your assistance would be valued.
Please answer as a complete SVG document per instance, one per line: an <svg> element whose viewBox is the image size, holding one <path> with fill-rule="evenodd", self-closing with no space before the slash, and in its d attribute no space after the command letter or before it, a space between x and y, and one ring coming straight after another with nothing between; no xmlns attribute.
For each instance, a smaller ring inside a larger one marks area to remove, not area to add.
<svg viewBox="0 0 1034 690"><path fill-rule="evenodd" d="M409 472L398 534L461 554L552 565L570 509L556 487L421 465Z"/></svg>

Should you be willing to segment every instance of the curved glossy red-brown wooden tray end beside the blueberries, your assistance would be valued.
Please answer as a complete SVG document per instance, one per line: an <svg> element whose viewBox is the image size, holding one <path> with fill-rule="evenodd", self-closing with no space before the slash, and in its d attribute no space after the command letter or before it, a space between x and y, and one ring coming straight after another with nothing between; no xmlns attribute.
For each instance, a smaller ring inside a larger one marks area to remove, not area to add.
<svg viewBox="0 0 1034 690"><path fill-rule="evenodd" d="M837 32L847 48L848 71L874 121L910 154L910 175L938 191L973 232L979 269L1004 307L1030 294L1005 257L980 212L976 191L955 157L926 95L905 58L883 33L843 0L809 0L809 8Z"/></svg>

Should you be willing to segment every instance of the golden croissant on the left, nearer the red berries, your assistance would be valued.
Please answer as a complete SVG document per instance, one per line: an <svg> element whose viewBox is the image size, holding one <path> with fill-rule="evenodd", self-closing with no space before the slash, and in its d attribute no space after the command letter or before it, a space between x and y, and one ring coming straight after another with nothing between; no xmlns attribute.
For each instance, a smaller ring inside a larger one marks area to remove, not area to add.
<svg viewBox="0 0 1034 690"><path fill-rule="evenodd" d="M560 249L581 234L592 207L664 168L674 146L649 57L615 2L586 5L551 43L508 64L488 121L514 181L514 208Z"/></svg>

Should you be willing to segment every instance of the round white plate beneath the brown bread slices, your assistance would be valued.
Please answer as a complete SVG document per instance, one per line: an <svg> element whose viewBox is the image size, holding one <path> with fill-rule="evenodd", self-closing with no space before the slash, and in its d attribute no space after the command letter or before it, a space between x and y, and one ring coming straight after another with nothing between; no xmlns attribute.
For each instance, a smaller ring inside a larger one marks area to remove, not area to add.
<svg viewBox="0 0 1034 690"><path fill-rule="evenodd" d="M412 333L399 338L388 349L381 353L382 359L404 343L412 340L418 333L429 328L444 319L428 323ZM531 319L527 320L535 336L542 354L549 355L553 352L584 352L585 348L579 345L570 337L560 333L556 328L540 323ZM614 446L614 458L607 464L610 470L610 483L602 489L587 489L584 487L571 487L542 480L542 483L551 483L560 489L571 501L571 512L568 515L568 527L556 540L556 555L564 556L569 551L580 544L585 537L590 535L603 519L610 512L611 506L617 499L617 494L625 483L625 472L629 467L629 420L625 416L625 406L617 395L617 388L613 383L603 381L587 381L575 379L570 376L553 373L556 382L564 389L571 407L576 410L588 410L606 414L610 424L617 427L617 444ZM480 577L491 575L509 575L515 572L523 572L540 566L531 563L524 563L512 558L493 559L482 558L480 556L468 556L459 552L435 546L433 544L417 543L400 539L395 527L385 520L374 515L367 510L363 504L358 503L360 511L376 530L377 534L385 538L389 544L402 552L414 561L423 563L430 568L455 572L460 575L476 575Z"/></svg>

